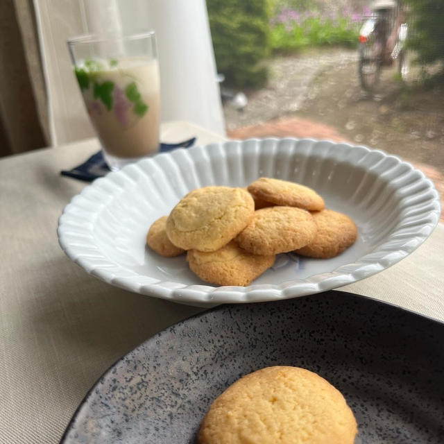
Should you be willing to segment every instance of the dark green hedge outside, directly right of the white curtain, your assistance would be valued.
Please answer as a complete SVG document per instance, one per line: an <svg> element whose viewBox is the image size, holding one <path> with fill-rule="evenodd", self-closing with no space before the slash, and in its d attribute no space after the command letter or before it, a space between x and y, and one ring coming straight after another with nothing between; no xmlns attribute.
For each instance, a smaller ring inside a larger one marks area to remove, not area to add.
<svg viewBox="0 0 444 444"><path fill-rule="evenodd" d="M267 0L207 0L218 72L236 87L259 87L268 71L270 48Z"/></svg>

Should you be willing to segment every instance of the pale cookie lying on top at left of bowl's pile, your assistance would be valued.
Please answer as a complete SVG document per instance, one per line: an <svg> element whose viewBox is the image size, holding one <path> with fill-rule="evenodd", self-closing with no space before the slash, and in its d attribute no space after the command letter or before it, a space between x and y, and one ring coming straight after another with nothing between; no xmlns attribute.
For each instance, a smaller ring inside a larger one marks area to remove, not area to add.
<svg viewBox="0 0 444 444"><path fill-rule="evenodd" d="M254 200L245 189L194 189L171 211L167 234L184 250L219 250L244 230L254 212Z"/></svg>

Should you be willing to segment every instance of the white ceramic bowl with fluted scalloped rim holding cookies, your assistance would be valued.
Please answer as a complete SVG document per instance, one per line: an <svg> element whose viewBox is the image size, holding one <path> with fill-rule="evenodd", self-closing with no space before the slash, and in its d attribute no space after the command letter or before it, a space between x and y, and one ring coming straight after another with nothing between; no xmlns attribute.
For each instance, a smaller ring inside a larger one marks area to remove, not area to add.
<svg viewBox="0 0 444 444"><path fill-rule="evenodd" d="M348 214L357 242L333 259L279 255L250 287L216 287L189 271L185 255L160 257L146 232L191 189L244 187L261 176L299 182L327 207ZM178 149L129 165L65 207L60 246L97 278L149 296L199 305L294 298L341 287L383 271L432 232L439 197L424 174L398 157L364 146L312 139L248 139Z"/></svg>

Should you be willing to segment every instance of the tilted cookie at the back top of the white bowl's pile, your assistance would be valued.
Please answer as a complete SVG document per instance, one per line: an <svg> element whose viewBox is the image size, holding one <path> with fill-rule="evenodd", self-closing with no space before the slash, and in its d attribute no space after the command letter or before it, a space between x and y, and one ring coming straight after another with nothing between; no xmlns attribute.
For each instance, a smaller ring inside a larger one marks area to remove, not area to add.
<svg viewBox="0 0 444 444"><path fill-rule="evenodd" d="M316 191L287 180L259 178L248 185L248 191L256 198L275 205L287 205L309 211L320 211L325 207L323 198Z"/></svg>

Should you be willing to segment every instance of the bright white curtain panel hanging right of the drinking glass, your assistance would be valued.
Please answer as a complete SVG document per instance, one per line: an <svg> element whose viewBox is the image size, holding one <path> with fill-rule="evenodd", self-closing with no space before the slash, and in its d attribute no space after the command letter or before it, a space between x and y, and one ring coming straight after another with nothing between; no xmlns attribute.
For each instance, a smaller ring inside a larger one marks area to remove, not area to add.
<svg viewBox="0 0 444 444"><path fill-rule="evenodd" d="M184 119L225 135L205 0L150 0L157 34L162 119Z"/></svg>

